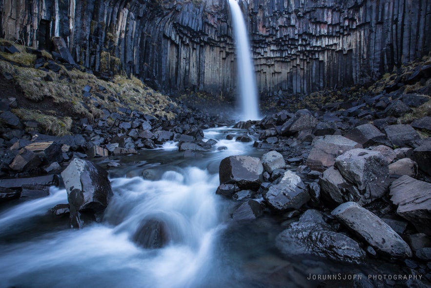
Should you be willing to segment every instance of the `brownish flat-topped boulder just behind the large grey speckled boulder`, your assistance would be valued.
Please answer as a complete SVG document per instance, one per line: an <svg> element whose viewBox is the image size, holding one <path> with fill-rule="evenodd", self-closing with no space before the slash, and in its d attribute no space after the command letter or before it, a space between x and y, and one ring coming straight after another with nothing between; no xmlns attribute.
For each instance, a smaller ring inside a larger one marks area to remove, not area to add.
<svg viewBox="0 0 431 288"><path fill-rule="evenodd" d="M311 145L313 148L308 155L306 165L312 170L321 172L334 165L338 155L354 148L362 148L361 144L340 135L316 137Z"/></svg>

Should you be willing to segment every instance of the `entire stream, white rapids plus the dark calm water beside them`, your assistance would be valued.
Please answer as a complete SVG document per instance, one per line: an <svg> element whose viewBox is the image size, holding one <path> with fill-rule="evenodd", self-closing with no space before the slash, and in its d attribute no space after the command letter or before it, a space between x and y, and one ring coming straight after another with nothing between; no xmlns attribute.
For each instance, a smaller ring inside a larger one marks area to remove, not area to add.
<svg viewBox="0 0 431 288"><path fill-rule="evenodd" d="M286 258L274 239L285 227L264 215L234 222L241 202L216 195L218 165L228 155L255 155L251 143L226 140L241 131L210 129L218 141L202 157L185 158L169 149L110 158L114 197L101 223L71 230L49 209L67 203L66 191L0 210L0 287L216 288L315 287L310 273L377 268L349 266L318 257ZM101 159L105 165L108 159ZM169 242L145 248L139 229L145 221L164 223Z"/></svg>

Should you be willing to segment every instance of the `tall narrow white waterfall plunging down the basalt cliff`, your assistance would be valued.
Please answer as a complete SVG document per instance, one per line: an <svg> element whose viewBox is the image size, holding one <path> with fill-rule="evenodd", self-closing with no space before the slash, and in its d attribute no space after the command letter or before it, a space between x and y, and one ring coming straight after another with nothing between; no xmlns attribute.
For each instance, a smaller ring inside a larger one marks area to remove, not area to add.
<svg viewBox="0 0 431 288"><path fill-rule="evenodd" d="M241 94L242 118L259 119L258 97L254 67L250 54L246 22L236 0L228 0L235 34L239 89Z"/></svg>

